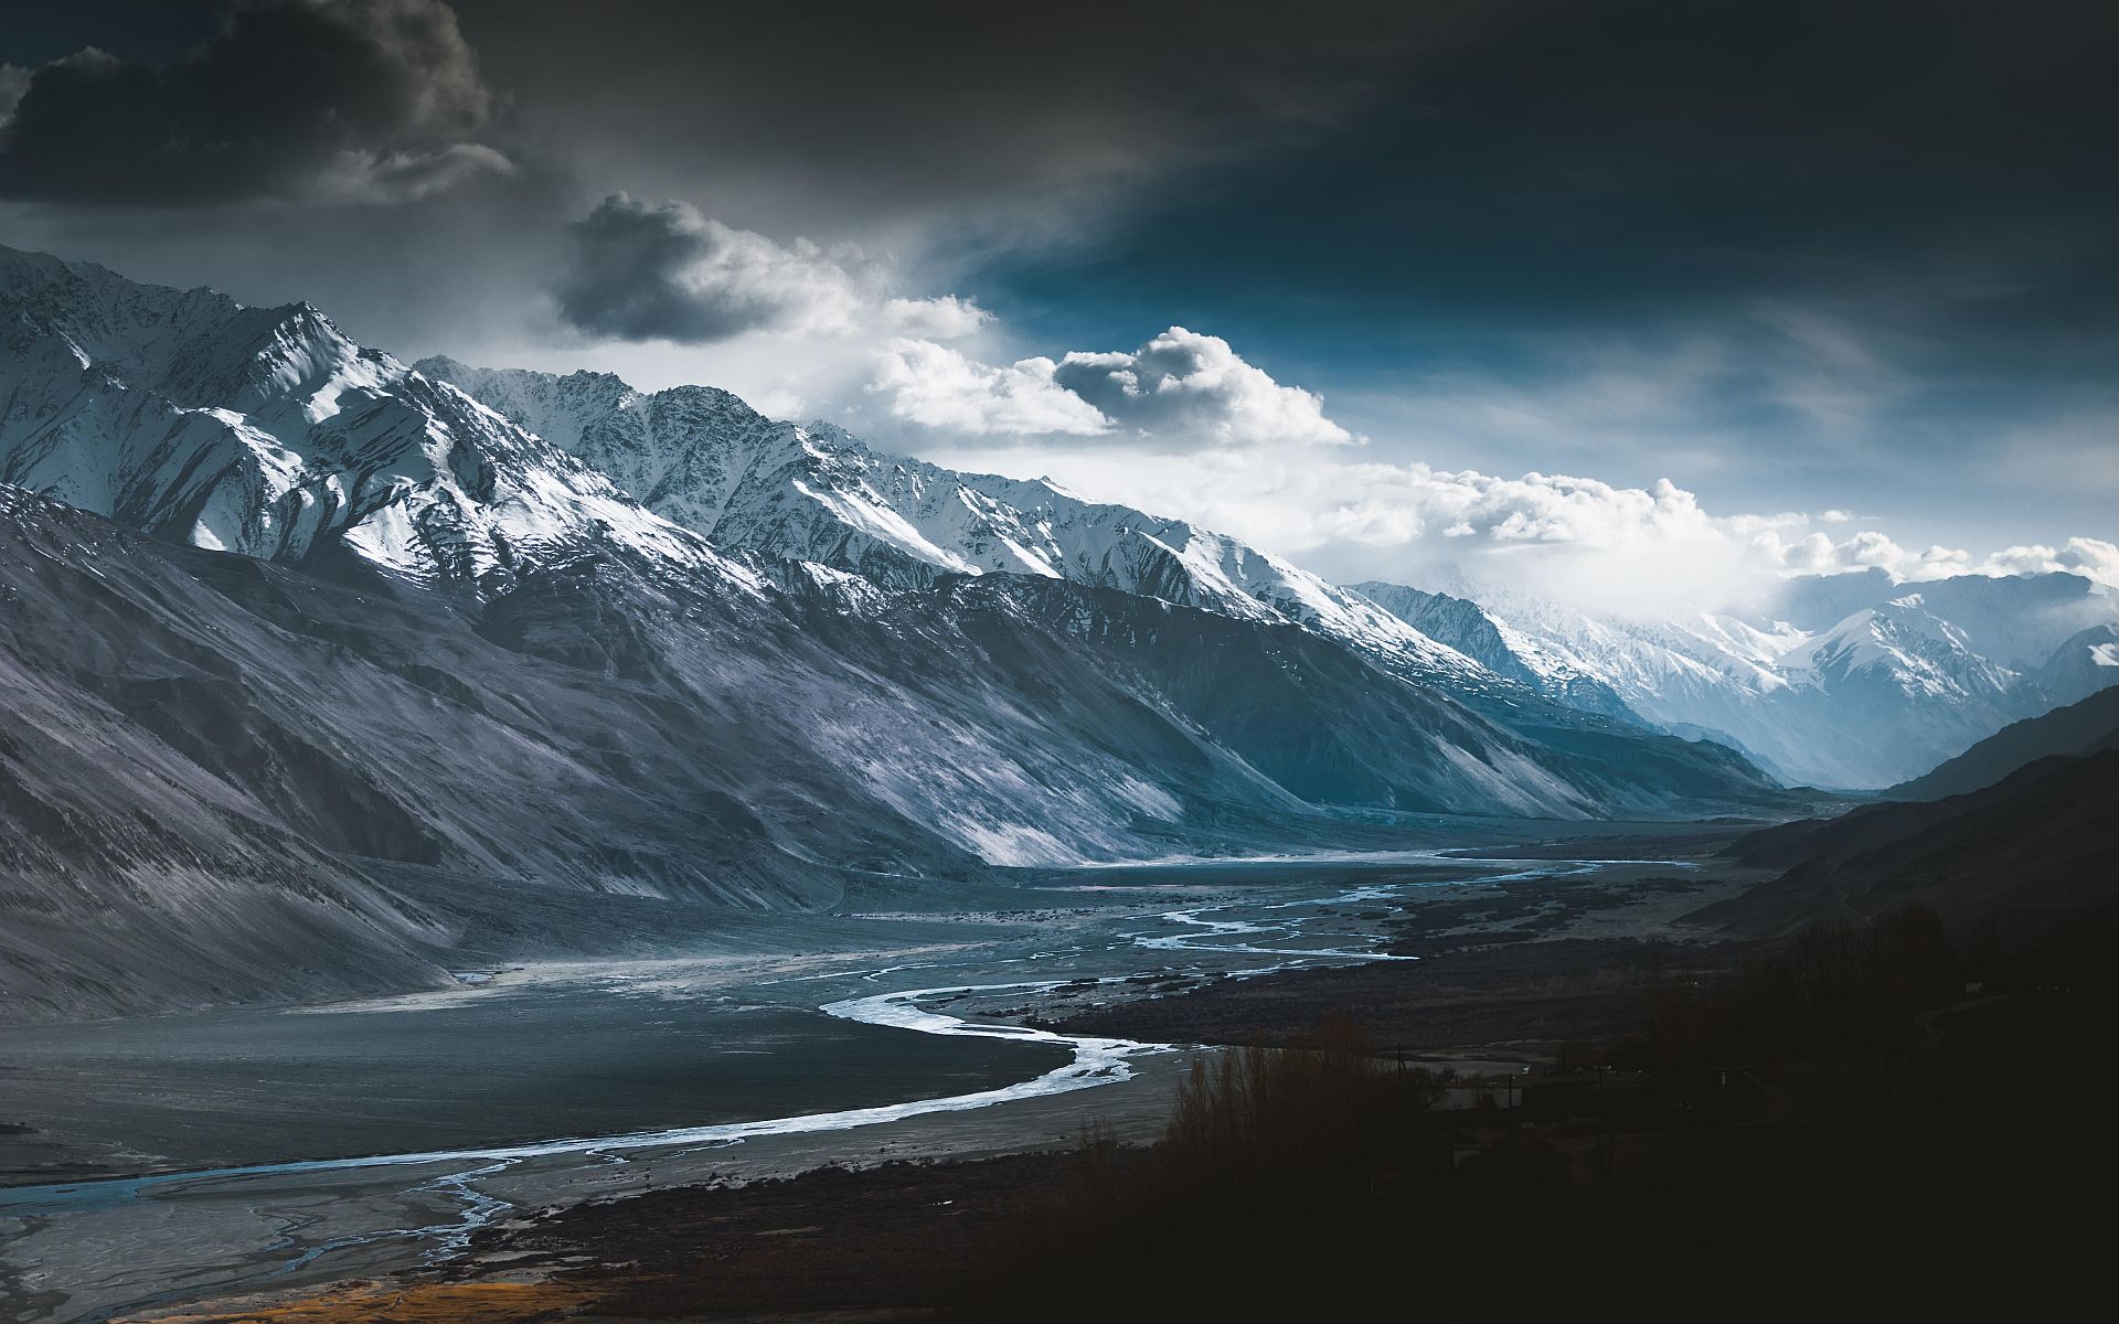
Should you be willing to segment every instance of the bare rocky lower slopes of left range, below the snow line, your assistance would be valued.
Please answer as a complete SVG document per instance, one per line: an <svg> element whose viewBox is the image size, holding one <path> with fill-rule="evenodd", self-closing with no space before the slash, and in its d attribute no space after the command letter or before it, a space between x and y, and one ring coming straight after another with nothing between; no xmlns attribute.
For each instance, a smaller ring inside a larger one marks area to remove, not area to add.
<svg viewBox="0 0 2119 1324"><path fill-rule="evenodd" d="M1778 803L1727 754L1562 780L1295 625L1112 589L790 566L752 597L604 551L464 597L0 496L13 1017L403 987L475 930L566 949L562 902L1343 845L1343 807Z"/></svg>

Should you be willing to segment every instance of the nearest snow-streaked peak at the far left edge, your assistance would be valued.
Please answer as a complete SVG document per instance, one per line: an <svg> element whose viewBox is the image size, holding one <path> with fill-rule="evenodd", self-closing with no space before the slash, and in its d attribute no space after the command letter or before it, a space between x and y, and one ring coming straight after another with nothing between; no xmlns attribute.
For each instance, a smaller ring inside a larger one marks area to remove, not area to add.
<svg viewBox="0 0 2119 1324"><path fill-rule="evenodd" d="M716 561L307 303L244 307L6 248L0 483L197 547L301 559L343 544L470 587L600 538Z"/></svg>

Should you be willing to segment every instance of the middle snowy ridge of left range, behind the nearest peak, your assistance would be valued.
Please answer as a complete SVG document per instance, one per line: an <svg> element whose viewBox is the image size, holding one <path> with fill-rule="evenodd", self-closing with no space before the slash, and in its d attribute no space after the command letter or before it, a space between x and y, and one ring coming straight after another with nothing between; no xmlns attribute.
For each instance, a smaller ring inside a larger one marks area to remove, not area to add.
<svg viewBox="0 0 2119 1324"><path fill-rule="evenodd" d="M523 428L608 472L625 491L720 547L820 561L879 583L937 574L1034 574L1197 606L1237 621L1295 621L1394 674L1435 684L1483 712L1555 699L1572 712L1636 724L1596 680L1439 642L1403 612L1307 570L1132 506L1085 500L1049 479L971 475L875 451L831 424L767 419L729 392L678 386L638 392L608 373L475 369L428 358L451 381ZM1528 642L1526 642L1528 646Z"/></svg>

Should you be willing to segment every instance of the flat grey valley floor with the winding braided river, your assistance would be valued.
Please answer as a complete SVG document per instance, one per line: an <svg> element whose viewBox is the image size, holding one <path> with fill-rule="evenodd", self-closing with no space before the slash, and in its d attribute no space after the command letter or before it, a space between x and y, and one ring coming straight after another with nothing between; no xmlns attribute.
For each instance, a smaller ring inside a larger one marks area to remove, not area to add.
<svg viewBox="0 0 2119 1324"><path fill-rule="evenodd" d="M585 1210L562 1216L587 1220L566 1229L606 1218L623 1227L665 1205L617 1197L678 1201L667 1205L676 1210L742 1186L750 1195L735 1205L701 1210L746 1207L771 1220L780 1218L771 1191L782 1188L754 1182L820 1169L807 1186L784 1188L786 1199L854 1182L848 1191L869 1195L845 1205L852 1218L901 1197L913 1201L905 1207L928 1207L920 1203L928 1193L964 1199L968 1212L981 1191L998 1199L1015 1180L1009 1174L1032 1174L1038 1161L977 1176L896 1161L1064 1150L1085 1127L1153 1138L1193 1059L1159 1044L1237 1038L1197 1021L1197 1008L1246 989L1384 970L1411 983L1428 970L1447 977L1445 1002L1477 998L1481 981L1562 994L1572 983L1625 981L1634 974L1621 964L1598 972L1583 958L1638 936L1687 941L1678 915L1740 885L1697 860L1435 852L1068 871L1023 879L1002 894L1011 905L981 898L981 909L962 909L964 898L949 909L911 890L877 894L826 926L809 919L803 953L793 932L778 943L752 934L744 951L712 958L526 968L451 994L53 1030L8 1049L11 1076L25 1085L8 1108L30 1129L0 1138L17 1163L17 1186L0 1188L0 1318L182 1316L206 1309L201 1301L339 1290L331 1284L352 1280L462 1280L466 1267L483 1288L449 1301L473 1313L432 1318L530 1318L576 1290L551 1275L551 1263L530 1273L532 1258L517 1258L532 1248L513 1239L545 1237L553 1210ZM879 943L877 932L894 941ZM1545 974L1538 953L1551 958ZM1407 960L1415 955L1426 960ZM1324 1004L1337 1000L1329 994ZM1536 1002L1521 1000L1524 1013L1551 1021L1549 1008L1532 1010ZM865 1006L867 1023L845 1019L852 1004ZM841 1010L818 1017L820 1006ZM1163 1023L1163 1008L1187 1010ZM1248 1030L1280 1034L1288 1017L1312 1010L1297 998ZM1074 1027L1127 1017L1157 1030L1136 1038ZM1460 1021L1456 1038L1418 1042L1500 1059L1509 1072L1551 1057L1549 1030L1502 1021ZM178 1063L191 1063L191 1076L172 1070ZM576 1083L604 1083L623 1108L600 1116ZM977 1102L949 1102L966 1097ZM538 1116L540 1108L549 1112ZM396 1159L362 1157L390 1152L379 1135L417 1135L407 1123L439 1129L394 1146ZM519 1144L549 1135L581 1140ZM68 1167L38 1171L49 1163ZM892 1163L894 1176L829 1171L877 1163ZM97 1180L97 1169L136 1176ZM964 1195L943 1193L949 1184ZM875 1218L884 1235L896 1216ZM784 1227L795 1231L765 1244L797 1254L816 1246L801 1229L831 1224L805 1214ZM570 1269L634 1258L621 1254L619 1233L583 1235L595 1244L566 1252L581 1256ZM848 1237L860 1244L860 1233ZM473 1248L475 1258L462 1258ZM909 1260L877 1250L873 1263ZM845 1269L865 1282L854 1260ZM500 1313L477 1313L511 1299ZM214 1309L208 1316L222 1318ZM288 1318L420 1318L348 1309L299 1307L311 1313Z"/></svg>

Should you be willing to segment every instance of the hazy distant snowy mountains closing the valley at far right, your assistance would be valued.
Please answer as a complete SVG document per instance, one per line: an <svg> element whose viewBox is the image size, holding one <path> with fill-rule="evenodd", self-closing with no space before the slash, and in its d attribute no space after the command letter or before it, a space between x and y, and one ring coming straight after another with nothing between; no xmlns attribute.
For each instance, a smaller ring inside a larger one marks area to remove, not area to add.
<svg viewBox="0 0 2119 1324"><path fill-rule="evenodd" d="M1401 602L1388 585L1363 591ZM1646 623L1598 621L1498 585L1475 593L1526 667L1591 676L1642 718L1731 744L1797 784L1890 786L2013 720L2119 684L2108 648L2119 600L2070 574L1805 576L1752 612ZM1426 597L1403 602L1432 627L1418 614Z"/></svg>

